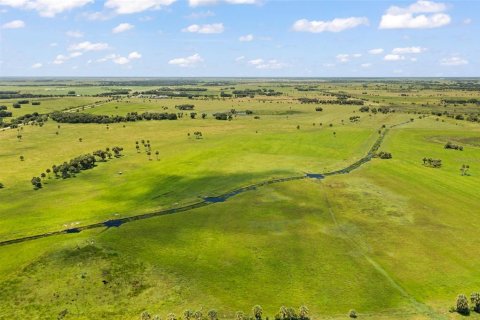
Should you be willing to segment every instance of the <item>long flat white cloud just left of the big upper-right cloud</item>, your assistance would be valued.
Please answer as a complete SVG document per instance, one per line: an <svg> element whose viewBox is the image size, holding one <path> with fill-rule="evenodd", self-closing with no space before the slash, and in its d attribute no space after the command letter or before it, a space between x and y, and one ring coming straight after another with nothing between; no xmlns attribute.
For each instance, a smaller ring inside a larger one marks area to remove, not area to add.
<svg viewBox="0 0 480 320"><path fill-rule="evenodd" d="M368 25L368 19L365 17L337 18L332 21L315 21L301 19L293 24L293 30L297 32L340 32L347 29L356 28L361 25Z"/></svg>

